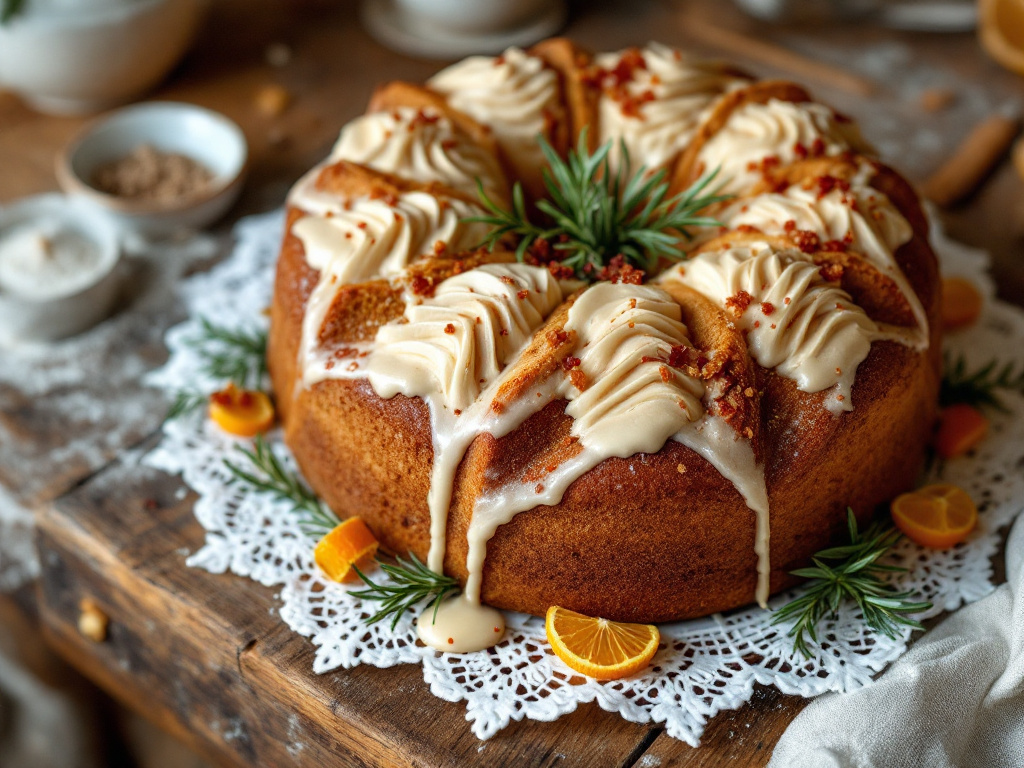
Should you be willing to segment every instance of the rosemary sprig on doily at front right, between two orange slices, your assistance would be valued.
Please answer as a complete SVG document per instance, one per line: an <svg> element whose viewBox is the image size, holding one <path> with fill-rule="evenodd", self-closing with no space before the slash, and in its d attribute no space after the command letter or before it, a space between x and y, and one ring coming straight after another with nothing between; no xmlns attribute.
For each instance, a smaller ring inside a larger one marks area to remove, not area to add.
<svg viewBox="0 0 1024 768"><path fill-rule="evenodd" d="M786 636L793 638L794 650L805 658L810 658L811 654L804 636L817 642L818 622L825 615L836 615L845 600L857 603L868 627L891 638L898 636L900 627L924 629L920 622L905 614L932 607L929 602L908 600L909 592L896 592L883 578L885 573L906 570L878 562L899 540L898 530L877 522L858 534L857 519L849 508L847 523L850 544L821 550L812 558L813 567L792 571L794 575L811 581L800 597L775 611L771 620L773 625L796 620ZM828 565L825 560L837 562Z"/></svg>

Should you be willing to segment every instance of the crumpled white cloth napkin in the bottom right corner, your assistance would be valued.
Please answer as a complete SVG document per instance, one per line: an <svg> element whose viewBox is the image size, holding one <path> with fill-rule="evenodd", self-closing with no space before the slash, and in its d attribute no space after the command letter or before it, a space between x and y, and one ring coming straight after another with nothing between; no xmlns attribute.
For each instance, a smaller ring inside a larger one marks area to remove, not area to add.
<svg viewBox="0 0 1024 768"><path fill-rule="evenodd" d="M1024 766L1024 516L1007 583L918 640L872 685L812 701L768 768Z"/></svg>

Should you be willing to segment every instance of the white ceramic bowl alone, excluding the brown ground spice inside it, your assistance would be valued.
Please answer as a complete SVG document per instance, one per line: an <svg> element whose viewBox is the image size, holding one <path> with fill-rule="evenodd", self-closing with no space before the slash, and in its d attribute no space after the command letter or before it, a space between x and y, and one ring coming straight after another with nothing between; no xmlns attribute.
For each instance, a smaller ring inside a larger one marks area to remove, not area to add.
<svg viewBox="0 0 1024 768"><path fill-rule="evenodd" d="M133 200L96 189L90 183L99 166L147 144L184 155L212 173L198 195L171 201ZM148 101L100 118L57 157L61 188L102 208L128 231L165 238L212 224L238 200L249 150L242 129L211 110L195 104Z"/></svg>

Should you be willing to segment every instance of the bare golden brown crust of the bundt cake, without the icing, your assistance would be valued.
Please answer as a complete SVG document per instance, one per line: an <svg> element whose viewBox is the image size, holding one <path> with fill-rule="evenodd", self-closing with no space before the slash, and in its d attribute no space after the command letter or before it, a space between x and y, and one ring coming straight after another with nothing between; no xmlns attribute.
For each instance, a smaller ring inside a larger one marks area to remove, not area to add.
<svg viewBox="0 0 1024 768"><path fill-rule="evenodd" d="M572 99L568 112L587 114L584 94L571 96L572 67L582 65L582 54L564 44L535 50L562 73ZM413 93L424 102L436 95L402 86L378 91L375 103L394 106L401 103L401 93ZM771 82L729 94L680 157L675 183L685 186L699 176L694 166L699 146L732 110L767 98L809 97L800 86ZM766 183L806 179L822 169L844 174L856 162L850 156L794 164L778 169ZM339 168L326 171L325 180L340 173ZM927 222L909 185L882 165L876 171L871 183L893 200L915 232L896 256L927 311L931 347L919 353L892 342L874 343L857 370L852 412L837 418L822 407L824 392L799 391L792 380L757 366L745 345L736 342L738 336L725 330L728 318L710 302L687 301L684 310L695 346L720 350L716 359L734 367L734 384L722 400L725 404L716 408L731 409L730 424L753 440L757 457L765 462L772 592L793 584L788 571L842 537L847 507L864 520L877 505L913 483L936 414L939 292ZM333 509L362 517L387 550L412 551L425 559L433 459L427 406L403 395L384 400L366 380L325 381L308 389L297 386L302 317L318 276L291 233L292 223L301 215L289 212L268 346L286 441L313 489ZM748 234L724 237L738 242ZM792 245L784 240L780 244ZM466 263L486 258L509 257L476 254L467 256ZM847 267L844 288L869 314L909 323L905 301L891 281L842 252L819 250L815 258ZM430 264L418 268L435 282L459 268ZM368 340L402 308L400 292L385 281L346 287L329 312L323 340L337 347ZM560 311L538 332L519 364L522 374L514 386L530 386L567 353L571 340L566 346L547 335L564 324L567 307ZM484 488L509 478L543 478L548 464L557 464L574 450L567 439L571 419L564 414L565 404L551 402L507 436L485 434L470 445L457 473L447 521L447 572L466 579L467 529L473 503ZM482 598L498 607L535 614L558 604L618 621L706 615L753 600L754 543L755 514L733 484L707 460L669 440L656 454L602 462L572 482L559 504L537 507L501 525L487 544Z"/></svg>

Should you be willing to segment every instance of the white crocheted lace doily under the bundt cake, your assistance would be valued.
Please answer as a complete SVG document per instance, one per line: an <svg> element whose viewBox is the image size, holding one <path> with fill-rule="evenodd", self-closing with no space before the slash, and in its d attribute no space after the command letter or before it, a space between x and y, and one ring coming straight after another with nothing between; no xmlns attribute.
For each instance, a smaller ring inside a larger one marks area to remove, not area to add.
<svg viewBox="0 0 1024 768"><path fill-rule="evenodd" d="M154 384L168 390L221 384L204 380L196 352L183 342L197 333L200 315L236 327L265 322L260 310L270 300L282 223L280 213L241 222L233 255L184 284L190 319L168 334L170 361L153 375ZM991 297L983 253L942 240L939 247L944 269L970 275ZM990 298L982 321L952 335L947 346L964 353L972 369L992 357L1012 360L1008 354L1024 349L1024 311ZM898 586L931 601L935 607L930 614L953 610L991 591L997 532L1024 507L1024 397L1000 397L1011 413L993 420L981 447L936 467L929 477L970 492L981 510L978 529L949 552L904 540L896 554L910 566L897 579ZM271 435L271 440L282 460L291 463L280 437ZM696 745L708 720L748 701L755 682L803 696L852 690L869 683L906 649L909 639L909 631L896 640L867 631L859 612L844 606L839 616L824 623L821 645L813 646L813 657L805 660L794 654L785 628L772 627L769 611L752 607L663 626L665 647L651 667L615 682L598 683L572 673L552 654L543 621L526 615L510 615L504 641L489 651L435 652L417 645L408 617L394 632L387 623L364 624L373 606L322 578L312 560L315 542L301 531L290 506L229 482L223 460L237 459L236 444L196 416L168 423L162 443L146 459L154 467L180 473L200 496L196 517L207 539L188 564L281 587L281 616L316 646L317 673L359 664L422 665L435 695L466 702L467 719L480 738L512 720L554 720L582 702L596 701L634 722L664 723L669 735ZM771 603L778 606L792 597L777 596Z"/></svg>

